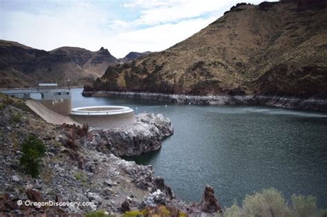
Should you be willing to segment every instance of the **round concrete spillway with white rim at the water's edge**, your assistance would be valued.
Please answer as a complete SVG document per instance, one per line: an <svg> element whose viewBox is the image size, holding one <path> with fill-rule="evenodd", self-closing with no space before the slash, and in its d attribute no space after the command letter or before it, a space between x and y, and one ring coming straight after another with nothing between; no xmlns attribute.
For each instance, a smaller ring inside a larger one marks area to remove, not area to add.
<svg viewBox="0 0 327 217"><path fill-rule="evenodd" d="M90 127L123 127L134 123L134 111L126 106L75 107L70 116L77 122Z"/></svg>

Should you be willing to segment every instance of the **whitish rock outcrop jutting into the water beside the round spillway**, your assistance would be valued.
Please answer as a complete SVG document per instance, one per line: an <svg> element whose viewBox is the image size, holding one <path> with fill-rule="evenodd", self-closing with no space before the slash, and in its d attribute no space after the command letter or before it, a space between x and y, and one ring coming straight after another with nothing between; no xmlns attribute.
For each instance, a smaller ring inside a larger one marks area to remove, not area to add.
<svg viewBox="0 0 327 217"><path fill-rule="evenodd" d="M161 141L173 132L168 118L143 113L136 115L135 123L126 127L91 130L86 145L116 156L135 156L159 149Z"/></svg>

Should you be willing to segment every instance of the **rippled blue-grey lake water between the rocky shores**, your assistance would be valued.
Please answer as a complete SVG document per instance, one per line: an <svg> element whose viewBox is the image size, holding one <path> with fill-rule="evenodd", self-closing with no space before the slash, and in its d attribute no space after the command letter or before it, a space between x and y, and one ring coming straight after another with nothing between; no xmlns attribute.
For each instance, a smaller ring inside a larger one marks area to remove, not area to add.
<svg viewBox="0 0 327 217"><path fill-rule="evenodd" d="M175 134L161 149L128 160L153 165L179 198L200 200L208 184L224 207L275 187L286 199L313 194L327 208L326 113L83 97L81 91L72 90L72 107L126 105L170 118Z"/></svg>

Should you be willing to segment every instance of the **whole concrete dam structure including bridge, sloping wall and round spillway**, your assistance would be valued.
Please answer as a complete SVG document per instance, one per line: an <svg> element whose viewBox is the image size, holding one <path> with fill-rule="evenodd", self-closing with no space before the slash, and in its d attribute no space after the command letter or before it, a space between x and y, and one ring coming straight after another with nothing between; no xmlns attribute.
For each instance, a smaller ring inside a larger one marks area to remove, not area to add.
<svg viewBox="0 0 327 217"><path fill-rule="evenodd" d="M40 84L35 88L2 89L3 94L19 97L44 121L52 124L88 124L93 128L111 128L131 125L135 122L134 111L124 106L92 106L72 109L70 88L57 84ZM30 99L31 94L41 94L40 100Z"/></svg>

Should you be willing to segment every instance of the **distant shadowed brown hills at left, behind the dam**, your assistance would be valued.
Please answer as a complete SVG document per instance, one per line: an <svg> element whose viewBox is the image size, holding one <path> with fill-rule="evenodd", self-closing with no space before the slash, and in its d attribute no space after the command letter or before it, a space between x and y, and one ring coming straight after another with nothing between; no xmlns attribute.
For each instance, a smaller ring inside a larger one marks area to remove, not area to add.
<svg viewBox="0 0 327 217"><path fill-rule="evenodd" d="M17 42L0 40L0 86L30 87L39 82L70 79L72 85L91 83L108 65L118 60L101 48L92 52L83 48L63 47L50 52Z"/></svg>

